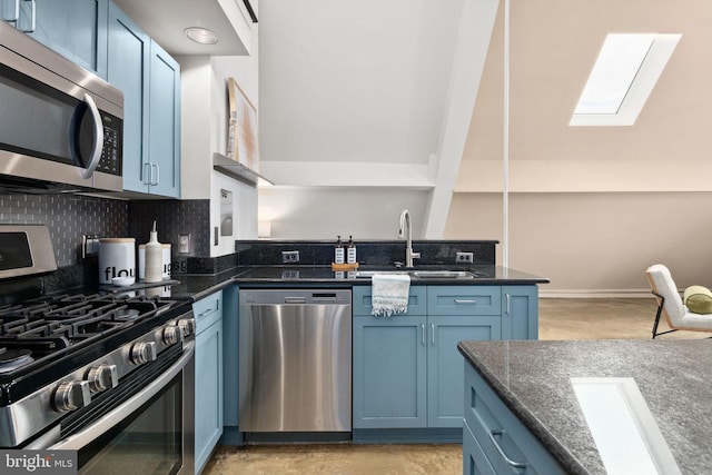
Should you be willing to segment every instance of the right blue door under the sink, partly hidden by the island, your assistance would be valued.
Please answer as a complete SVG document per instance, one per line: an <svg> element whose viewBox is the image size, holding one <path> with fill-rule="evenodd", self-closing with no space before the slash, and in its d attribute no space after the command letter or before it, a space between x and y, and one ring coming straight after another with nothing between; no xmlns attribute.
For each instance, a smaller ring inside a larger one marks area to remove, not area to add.
<svg viewBox="0 0 712 475"><path fill-rule="evenodd" d="M428 316L427 425L462 427L465 370L461 340L500 339L500 316Z"/></svg>

